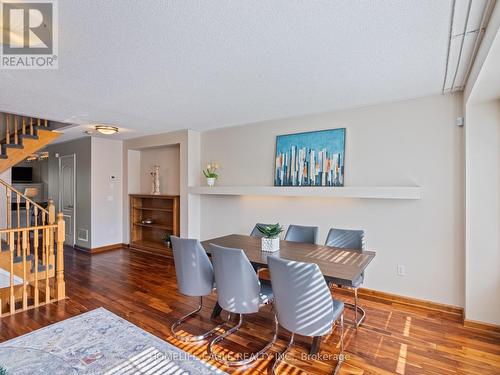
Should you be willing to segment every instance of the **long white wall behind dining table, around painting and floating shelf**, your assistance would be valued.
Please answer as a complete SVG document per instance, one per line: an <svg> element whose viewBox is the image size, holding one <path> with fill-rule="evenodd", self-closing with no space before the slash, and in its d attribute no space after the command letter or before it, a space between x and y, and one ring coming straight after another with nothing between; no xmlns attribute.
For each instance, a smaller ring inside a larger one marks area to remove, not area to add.
<svg viewBox="0 0 500 375"><path fill-rule="evenodd" d="M272 185L275 137L347 128L346 185L419 185L416 201L220 197L201 199L201 237L249 233L256 222L362 228L377 256L365 286L464 304L463 129L459 96L432 96L202 133L201 163L221 185ZM397 276L397 264L406 276Z"/></svg>

